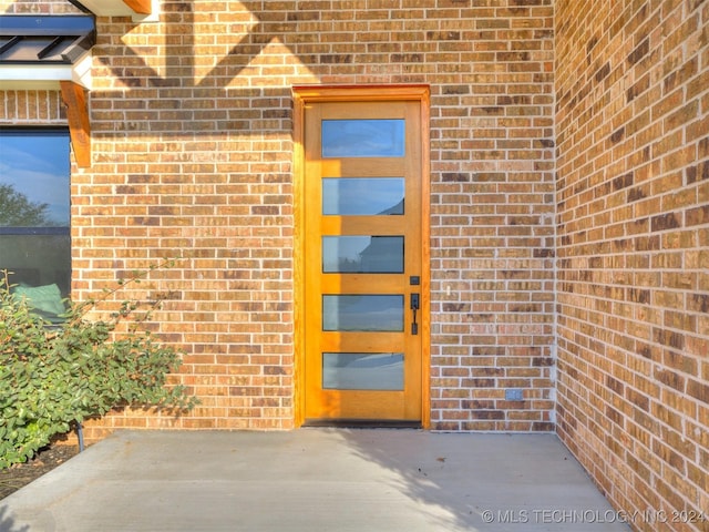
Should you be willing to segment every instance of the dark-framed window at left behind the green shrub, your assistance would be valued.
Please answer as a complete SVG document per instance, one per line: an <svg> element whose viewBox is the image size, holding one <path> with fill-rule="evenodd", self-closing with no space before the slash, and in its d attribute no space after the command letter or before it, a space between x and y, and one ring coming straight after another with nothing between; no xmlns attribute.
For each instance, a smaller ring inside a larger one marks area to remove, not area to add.
<svg viewBox="0 0 709 532"><path fill-rule="evenodd" d="M49 319L71 284L69 131L0 129L0 270Z"/></svg>

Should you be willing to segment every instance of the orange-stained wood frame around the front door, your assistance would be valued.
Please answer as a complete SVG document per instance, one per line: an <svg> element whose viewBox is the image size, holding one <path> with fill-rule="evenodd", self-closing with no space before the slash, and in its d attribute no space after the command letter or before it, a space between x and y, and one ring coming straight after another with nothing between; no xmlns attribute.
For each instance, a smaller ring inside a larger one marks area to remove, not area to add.
<svg viewBox="0 0 709 532"><path fill-rule="evenodd" d="M294 98L294 424L305 421L305 112L309 103L415 101L421 110L421 424L431 426L429 85L296 85Z"/></svg>

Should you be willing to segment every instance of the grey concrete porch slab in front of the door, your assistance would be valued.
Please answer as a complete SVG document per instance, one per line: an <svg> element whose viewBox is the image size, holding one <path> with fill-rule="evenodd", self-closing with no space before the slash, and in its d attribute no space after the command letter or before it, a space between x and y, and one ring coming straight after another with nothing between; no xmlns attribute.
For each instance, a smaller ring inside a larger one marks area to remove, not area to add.
<svg viewBox="0 0 709 532"><path fill-rule="evenodd" d="M628 531L554 434L125 431L0 501L2 532Z"/></svg>

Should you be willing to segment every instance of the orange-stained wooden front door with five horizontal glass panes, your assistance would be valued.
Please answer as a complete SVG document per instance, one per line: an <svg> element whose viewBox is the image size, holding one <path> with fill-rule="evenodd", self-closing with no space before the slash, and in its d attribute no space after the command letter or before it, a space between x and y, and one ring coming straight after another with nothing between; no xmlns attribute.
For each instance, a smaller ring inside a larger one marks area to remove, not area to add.
<svg viewBox="0 0 709 532"><path fill-rule="evenodd" d="M422 420L421 105L304 106L306 422Z"/></svg>

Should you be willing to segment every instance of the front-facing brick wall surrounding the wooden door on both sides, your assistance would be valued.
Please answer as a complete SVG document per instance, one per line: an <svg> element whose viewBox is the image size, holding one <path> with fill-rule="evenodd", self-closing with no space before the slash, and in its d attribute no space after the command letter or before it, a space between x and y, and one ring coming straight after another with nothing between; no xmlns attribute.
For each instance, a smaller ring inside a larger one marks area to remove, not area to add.
<svg viewBox="0 0 709 532"><path fill-rule="evenodd" d="M292 426L290 86L307 83L431 85L432 426L553 430L552 1L161 4L155 23L97 19L73 295L188 254L125 295L169 296L154 327L202 406L88 438Z"/></svg>

